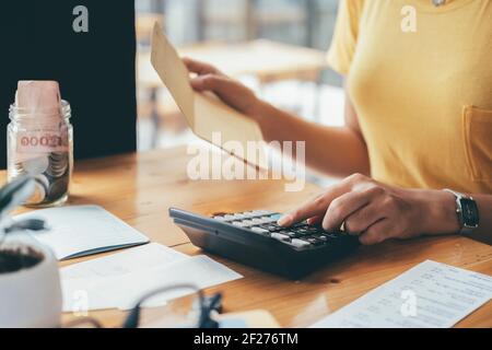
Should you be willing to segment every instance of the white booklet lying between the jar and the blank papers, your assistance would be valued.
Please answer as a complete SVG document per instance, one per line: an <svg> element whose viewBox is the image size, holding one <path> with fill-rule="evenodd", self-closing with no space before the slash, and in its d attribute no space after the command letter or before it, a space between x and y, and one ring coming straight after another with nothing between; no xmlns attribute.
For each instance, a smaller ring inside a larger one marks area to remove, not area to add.
<svg viewBox="0 0 492 350"><path fill-rule="evenodd" d="M20 214L43 219L49 230L34 237L49 246L59 260L149 243L149 238L97 206L63 207Z"/></svg>

